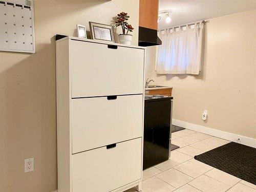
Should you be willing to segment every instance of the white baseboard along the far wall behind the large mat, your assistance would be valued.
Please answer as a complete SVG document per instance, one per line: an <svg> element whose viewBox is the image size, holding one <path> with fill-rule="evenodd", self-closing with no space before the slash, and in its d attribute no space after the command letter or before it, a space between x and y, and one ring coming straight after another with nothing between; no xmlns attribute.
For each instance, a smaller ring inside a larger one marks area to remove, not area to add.
<svg viewBox="0 0 256 192"><path fill-rule="evenodd" d="M219 137L229 141L238 142L238 143L256 148L256 139L253 139L250 137L245 137L242 135L237 135L237 134L228 133L228 132L224 132L216 129L211 129L206 126L188 123L188 122L180 121L177 119L173 119L173 125L180 126L188 130L204 133L207 135ZM238 141L238 138L240 138L240 141Z"/></svg>

